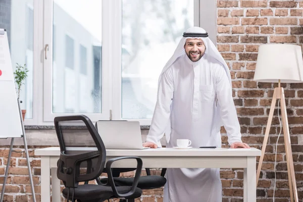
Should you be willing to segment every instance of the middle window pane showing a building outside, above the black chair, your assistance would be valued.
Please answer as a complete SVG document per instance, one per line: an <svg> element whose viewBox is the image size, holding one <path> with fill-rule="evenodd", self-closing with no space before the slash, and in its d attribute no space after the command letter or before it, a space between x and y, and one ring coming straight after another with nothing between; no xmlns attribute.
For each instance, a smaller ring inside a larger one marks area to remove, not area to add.
<svg viewBox="0 0 303 202"><path fill-rule="evenodd" d="M52 4L45 10L53 8L52 17L44 21L45 29L49 24L53 27L53 35L45 36L53 41L53 63L48 54L44 64L53 70L53 78L45 83L52 93L45 96L44 120L61 114L102 113L102 53L98 49L102 47L102 1L45 2Z"/></svg>

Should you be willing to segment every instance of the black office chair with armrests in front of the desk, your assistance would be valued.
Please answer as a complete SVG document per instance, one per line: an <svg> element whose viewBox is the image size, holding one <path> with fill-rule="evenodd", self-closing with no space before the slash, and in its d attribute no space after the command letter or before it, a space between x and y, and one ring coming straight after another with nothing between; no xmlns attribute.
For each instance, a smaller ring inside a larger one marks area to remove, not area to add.
<svg viewBox="0 0 303 202"><path fill-rule="evenodd" d="M85 129L78 130L77 132L70 131L64 127L64 123L70 121L82 121L86 127ZM111 198L134 201L134 198L141 196L142 190L137 188L137 184L142 169L142 160L138 157L118 157L109 160L106 164L107 171L109 171L109 180L106 184L79 185L79 182L94 180L100 176L105 166L105 146L95 127L86 116L56 117L54 122L61 150L60 159L57 163L57 176L63 181L66 187L62 193L63 196L67 198L67 201L102 202ZM85 138L85 141L81 141L80 136ZM96 147L97 149L67 149L67 147ZM137 171L134 177L135 180L131 186L117 187L114 183L111 166L113 162L121 159L137 160Z"/></svg>

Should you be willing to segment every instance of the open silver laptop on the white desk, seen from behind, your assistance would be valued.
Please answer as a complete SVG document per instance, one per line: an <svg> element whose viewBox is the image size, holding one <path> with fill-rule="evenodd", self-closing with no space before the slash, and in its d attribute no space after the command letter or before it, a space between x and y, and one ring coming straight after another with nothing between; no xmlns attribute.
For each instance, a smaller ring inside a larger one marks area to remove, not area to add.
<svg viewBox="0 0 303 202"><path fill-rule="evenodd" d="M106 148L145 149L138 121L97 121L96 128Z"/></svg>

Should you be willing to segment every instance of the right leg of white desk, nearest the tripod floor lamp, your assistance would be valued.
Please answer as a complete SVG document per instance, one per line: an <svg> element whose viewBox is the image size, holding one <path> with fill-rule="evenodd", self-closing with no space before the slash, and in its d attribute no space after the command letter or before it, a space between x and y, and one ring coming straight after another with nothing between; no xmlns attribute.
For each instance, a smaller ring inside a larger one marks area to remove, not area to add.
<svg viewBox="0 0 303 202"><path fill-rule="evenodd" d="M256 157L247 157L247 168L244 168L243 201L256 202Z"/></svg>

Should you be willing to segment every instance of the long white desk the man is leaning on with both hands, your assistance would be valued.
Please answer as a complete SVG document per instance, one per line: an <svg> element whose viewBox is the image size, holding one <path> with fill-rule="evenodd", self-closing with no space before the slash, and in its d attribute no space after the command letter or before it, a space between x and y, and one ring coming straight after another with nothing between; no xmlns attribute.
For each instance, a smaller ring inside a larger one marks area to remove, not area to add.
<svg viewBox="0 0 303 202"><path fill-rule="evenodd" d="M72 148L74 150L75 148ZM80 148L96 150L95 148ZM76 150L79 150L77 148ZM57 161L60 156L59 147L48 147L35 150L41 156L41 201L49 202L51 190L50 176L52 170L53 201L61 201L60 180L57 178ZM143 161L143 168L244 168L244 201L256 201L256 157L261 150L256 148L243 149L107 149L107 160L116 157L136 156ZM135 160L121 160L113 167L135 168Z"/></svg>

